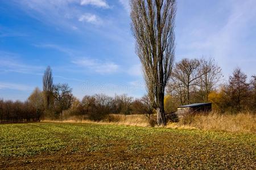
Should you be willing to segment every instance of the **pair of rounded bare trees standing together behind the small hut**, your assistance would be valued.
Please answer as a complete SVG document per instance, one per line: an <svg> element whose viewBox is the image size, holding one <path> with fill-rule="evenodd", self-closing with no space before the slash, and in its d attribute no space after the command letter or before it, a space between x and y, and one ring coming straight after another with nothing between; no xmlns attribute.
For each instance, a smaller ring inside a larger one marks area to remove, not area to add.
<svg viewBox="0 0 256 170"><path fill-rule="evenodd" d="M201 102L209 102L209 94L220 85L221 68L213 58L188 59L177 62L168 84L168 94L179 100L179 105L196 103L191 95L197 92Z"/></svg>

